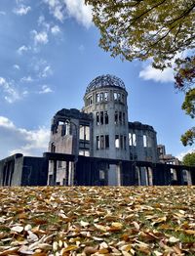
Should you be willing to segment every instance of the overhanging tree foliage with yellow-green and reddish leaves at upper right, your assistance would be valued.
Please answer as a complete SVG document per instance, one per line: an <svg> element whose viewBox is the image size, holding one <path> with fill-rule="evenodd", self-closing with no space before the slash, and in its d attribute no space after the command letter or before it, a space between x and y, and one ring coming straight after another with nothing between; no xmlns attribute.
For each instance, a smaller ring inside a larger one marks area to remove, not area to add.
<svg viewBox="0 0 195 256"><path fill-rule="evenodd" d="M85 0L92 5L100 31L99 46L123 60L152 60L155 68L176 65L176 88L183 91L182 109L195 109L195 0ZM176 59L189 50L187 58ZM174 61L176 60L176 61ZM195 128L181 141L192 145Z"/></svg>

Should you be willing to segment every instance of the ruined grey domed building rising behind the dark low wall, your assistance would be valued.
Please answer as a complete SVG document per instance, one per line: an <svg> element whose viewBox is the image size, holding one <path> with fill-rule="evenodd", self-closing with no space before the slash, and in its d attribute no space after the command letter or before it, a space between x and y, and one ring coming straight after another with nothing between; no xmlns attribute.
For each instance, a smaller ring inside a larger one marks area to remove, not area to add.
<svg viewBox="0 0 195 256"><path fill-rule="evenodd" d="M114 75L101 75L87 87L85 106L61 109L53 118L49 151L109 159L158 162L156 132L152 126L128 121L128 92ZM73 164L73 163L71 163ZM57 183L73 183L73 166L57 165ZM117 165L101 166L107 185L120 185ZM49 166L49 184L54 174ZM99 174L100 175L100 174ZM142 179L145 179L144 177Z"/></svg>

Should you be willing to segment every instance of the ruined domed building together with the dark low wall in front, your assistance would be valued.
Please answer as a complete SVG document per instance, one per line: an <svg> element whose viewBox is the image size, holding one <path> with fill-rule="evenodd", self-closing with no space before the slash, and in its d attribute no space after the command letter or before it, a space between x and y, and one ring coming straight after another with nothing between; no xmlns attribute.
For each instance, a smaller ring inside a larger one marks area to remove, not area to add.
<svg viewBox="0 0 195 256"><path fill-rule="evenodd" d="M157 146L152 126L129 122L127 97L121 79L98 76L82 110L55 114L43 157L16 153L0 160L0 186L195 185L195 167Z"/></svg>

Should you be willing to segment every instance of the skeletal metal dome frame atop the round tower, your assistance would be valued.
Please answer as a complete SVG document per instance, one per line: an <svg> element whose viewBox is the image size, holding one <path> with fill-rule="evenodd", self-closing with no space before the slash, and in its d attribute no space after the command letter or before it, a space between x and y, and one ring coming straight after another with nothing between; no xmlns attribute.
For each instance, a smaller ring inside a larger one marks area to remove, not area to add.
<svg viewBox="0 0 195 256"><path fill-rule="evenodd" d="M125 88L125 84L124 82L118 78L115 75L110 75L110 74L106 74L106 75L99 75L97 78L95 78L87 87L86 89L86 94L101 88L101 87L120 87L124 90L126 90Z"/></svg>

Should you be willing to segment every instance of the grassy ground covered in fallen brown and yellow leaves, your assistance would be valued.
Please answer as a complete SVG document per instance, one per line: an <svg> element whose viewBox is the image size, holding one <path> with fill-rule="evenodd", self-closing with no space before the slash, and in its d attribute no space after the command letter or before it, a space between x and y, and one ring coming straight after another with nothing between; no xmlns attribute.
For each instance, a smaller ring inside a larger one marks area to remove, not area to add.
<svg viewBox="0 0 195 256"><path fill-rule="evenodd" d="M195 187L1 188L0 255L195 255Z"/></svg>

